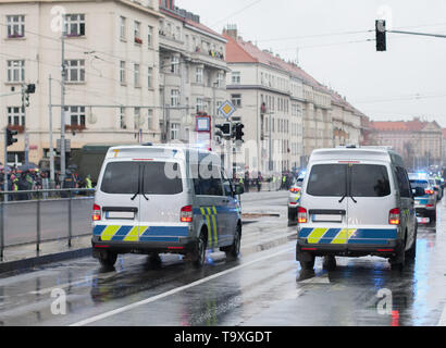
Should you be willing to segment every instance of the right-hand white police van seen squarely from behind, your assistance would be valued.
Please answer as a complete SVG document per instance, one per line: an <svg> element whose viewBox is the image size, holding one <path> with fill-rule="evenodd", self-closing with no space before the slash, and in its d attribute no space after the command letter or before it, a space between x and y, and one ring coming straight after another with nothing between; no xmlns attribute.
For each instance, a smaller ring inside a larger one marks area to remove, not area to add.
<svg viewBox="0 0 446 348"><path fill-rule="evenodd" d="M417 190L417 195L423 195ZM401 269L416 257L413 191L399 154L386 148L314 150L298 207L296 259L312 270L335 256L380 256Z"/></svg>

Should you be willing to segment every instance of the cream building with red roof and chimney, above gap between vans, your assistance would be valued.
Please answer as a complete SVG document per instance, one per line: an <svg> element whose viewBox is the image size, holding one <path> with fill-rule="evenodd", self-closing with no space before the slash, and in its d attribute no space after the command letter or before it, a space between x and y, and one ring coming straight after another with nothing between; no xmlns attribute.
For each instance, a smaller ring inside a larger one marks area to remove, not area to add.
<svg viewBox="0 0 446 348"><path fill-rule="evenodd" d="M227 39L227 90L237 111L233 119L245 124L245 164L261 172L301 166L303 147L303 83L286 63L267 50L224 30ZM256 150L257 149L257 150Z"/></svg>

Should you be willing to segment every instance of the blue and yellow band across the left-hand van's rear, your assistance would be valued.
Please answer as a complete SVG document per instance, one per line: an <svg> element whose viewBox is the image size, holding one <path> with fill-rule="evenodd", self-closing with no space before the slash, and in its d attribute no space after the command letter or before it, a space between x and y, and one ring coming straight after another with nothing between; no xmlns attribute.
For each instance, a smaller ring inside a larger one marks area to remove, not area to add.
<svg viewBox="0 0 446 348"><path fill-rule="evenodd" d="M97 225L94 227L94 236L102 241L179 241L187 237L187 226L122 226L122 225Z"/></svg>

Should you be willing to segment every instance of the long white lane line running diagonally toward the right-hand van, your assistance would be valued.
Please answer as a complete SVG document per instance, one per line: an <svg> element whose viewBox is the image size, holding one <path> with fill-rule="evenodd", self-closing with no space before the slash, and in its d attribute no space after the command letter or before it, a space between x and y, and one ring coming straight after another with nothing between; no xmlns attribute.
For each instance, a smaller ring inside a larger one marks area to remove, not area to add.
<svg viewBox="0 0 446 348"><path fill-rule="evenodd" d="M232 273L232 272L238 271L238 270L240 270L240 269L247 268L247 266L249 266L249 265L251 265L251 264L255 264L255 263L257 263L257 262L261 262L261 261L264 261L264 260L268 260L268 259L275 258L276 256L280 256L280 254L285 253L285 252L289 252L290 250L293 250L293 249L295 249L295 248L296 248L295 246L293 246L293 248L289 248L289 247L288 247L288 248L286 248L286 249L284 249L284 250L281 250L281 251L277 251L277 252L268 254L268 256L265 256L264 258L260 258L260 259L257 259L257 260L252 260L252 261L249 261L249 262L247 262L247 263L237 265L237 266L235 266L235 268L233 268L233 269L230 269L230 270L226 270L226 271L222 271L222 272L220 272L220 273L215 273L215 274L210 275L210 276L208 276L208 277L206 277L206 278L202 278L202 279L196 281L196 282L194 282L194 283L190 283L190 284L187 284L187 285L184 285L184 286L174 288L174 289L169 290L169 291L166 291L166 293L163 293L163 294L160 294L160 295L157 295L157 296L149 297L149 298L147 298L147 299L145 299L145 300L141 300L141 301L138 301L138 302L135 302L135 303L131 303L131 304L127 304L127 306L117 308L117 309L115 309L115 310L112 310L112 311L109 311L109 312L106 312L106 313L102 313L102 314L99 314L99 315L90 316L90 318L85 319L85 320L83 320L83 321L79 321L79 322L77 322L77 323L71 324L70 326L84 326L84 325L88 325L88 324L95 323L95 322L97 322L97 321L103 320L103 319L106 319L106 318L109 318L109 316L112 316L112 315L116 315L116 314L119 314L119 313L122 313L122 312L128 311L128 310L131 310L131 309L137 308L137 307L139 307L139 306L144 306L144 304L147 304L147 303L150 303L150 302L154 302L154 301L157 301L157 300L159 300L159 299L161 299L161 298L164 298L164 297L168 297L168 296L177 294L177 293L179 293L179 291L183 291L183 290L185 290L185 289L195 287L195 286L197 286L197 285L201 285L201 284L207 283L207 282L209 282L209 281L212 281L212 279L215 279L215 278L221 277L221 276L223 276L223 275L226 275L226 274L228 274L228 273Z"/></svg>

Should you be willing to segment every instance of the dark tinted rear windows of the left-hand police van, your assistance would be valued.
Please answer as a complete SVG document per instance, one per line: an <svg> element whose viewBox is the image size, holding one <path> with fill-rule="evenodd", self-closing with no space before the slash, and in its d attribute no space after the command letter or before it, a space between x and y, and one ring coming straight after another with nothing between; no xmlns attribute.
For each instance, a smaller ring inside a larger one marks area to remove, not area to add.
<svg viewBox="0 0 446 348"><path fill-rule="evenodd" d="M183 181L178 164L174 164L173 170L175 177L166 173L165 162L109 163L103 174L101 191L112 195L135 195L144 187L145 195L181 194Z"/></svg>

